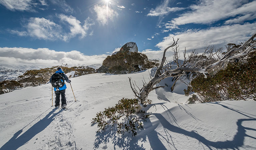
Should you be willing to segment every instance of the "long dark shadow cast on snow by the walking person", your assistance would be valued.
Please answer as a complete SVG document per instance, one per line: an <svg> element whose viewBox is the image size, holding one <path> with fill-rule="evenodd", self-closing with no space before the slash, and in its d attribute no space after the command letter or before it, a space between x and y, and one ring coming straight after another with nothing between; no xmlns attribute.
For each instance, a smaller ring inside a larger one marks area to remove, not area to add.
<svg viewBox="0 0 256 150"><path fill-rule="evenodd" d="M20 135L23 129L16 132L13 137L5 143L0 150L15 150L26 144L29 140L31 140L35 135L43 131L53 120L54 117L59 114L61 111L50 116L56 109L54 108L50 111L43 119L39 120L32 127L30 127L27 131L25 131L22 135ZM20 135L20 136L19 136ZM19 137L18 137L19 136Z"/></svg>

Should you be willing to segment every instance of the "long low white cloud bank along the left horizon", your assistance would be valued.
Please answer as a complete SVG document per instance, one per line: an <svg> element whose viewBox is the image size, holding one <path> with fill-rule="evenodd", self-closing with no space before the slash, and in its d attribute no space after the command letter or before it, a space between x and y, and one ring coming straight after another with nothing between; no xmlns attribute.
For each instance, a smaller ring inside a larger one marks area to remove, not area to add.
<svg viewBox="0 0 256 150"><path fill-rule="evenodd" d="M51 67L60 64L81 66L102 63L107 55L87 56L79 51L57 52L48 48L0 47L0 64Z"/></svg>

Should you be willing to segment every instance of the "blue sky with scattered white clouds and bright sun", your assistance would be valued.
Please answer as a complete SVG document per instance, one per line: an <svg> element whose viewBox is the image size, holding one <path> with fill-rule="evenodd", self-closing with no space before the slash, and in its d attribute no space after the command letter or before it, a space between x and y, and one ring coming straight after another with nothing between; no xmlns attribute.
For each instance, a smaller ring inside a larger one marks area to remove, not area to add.
<svg viewBox="0 0 256 150"><path fill-rule="evenodd" d="M98 64L127 42L161 59L173 38L180 53L200 53L247 40L255 8L256 0L0 0L0 64Z"/></svg>

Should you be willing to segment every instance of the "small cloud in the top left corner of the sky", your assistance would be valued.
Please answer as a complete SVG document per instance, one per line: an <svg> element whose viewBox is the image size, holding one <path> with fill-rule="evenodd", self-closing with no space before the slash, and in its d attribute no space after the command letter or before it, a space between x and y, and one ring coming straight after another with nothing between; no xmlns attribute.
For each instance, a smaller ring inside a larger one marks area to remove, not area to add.
<svg viewBox="0 0 256 150"><path fill-rule="evenodd" d="M33 0L0 0L0 4L11 11L35 11Z"/></svg>

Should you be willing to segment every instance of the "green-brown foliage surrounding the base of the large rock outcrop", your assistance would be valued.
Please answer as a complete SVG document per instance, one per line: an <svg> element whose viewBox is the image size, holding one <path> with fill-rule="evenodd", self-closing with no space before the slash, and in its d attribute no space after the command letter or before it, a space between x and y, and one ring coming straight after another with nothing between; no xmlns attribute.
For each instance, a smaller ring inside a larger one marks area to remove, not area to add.
<svg viewBox="0 0 256 150"><path fill-rule="evenodd" d="M159 61L150 60L142 53L125 51L107 56L102 65L108 68L109 73L126 74L156 67Z"/></svg>

